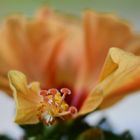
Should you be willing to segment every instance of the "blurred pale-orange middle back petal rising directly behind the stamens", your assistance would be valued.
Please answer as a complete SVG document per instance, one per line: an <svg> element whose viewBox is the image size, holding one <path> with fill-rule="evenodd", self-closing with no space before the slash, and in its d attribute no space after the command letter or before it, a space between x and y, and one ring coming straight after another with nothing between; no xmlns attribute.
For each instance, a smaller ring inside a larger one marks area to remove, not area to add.
<svg viewBox="0 0 140 140"><path fill-rule="evenodd" d="M50 33L49 39L53 40L53 46L49 47L52 48L50 57L44 63L46 77L50 77L46 81L59 87L64 84L74 86L83 60L84 39L81 23L72 17L56 14L48 8L41 9L38 18L45 21ZM46 56L44 53L42 55Z"/></svg>

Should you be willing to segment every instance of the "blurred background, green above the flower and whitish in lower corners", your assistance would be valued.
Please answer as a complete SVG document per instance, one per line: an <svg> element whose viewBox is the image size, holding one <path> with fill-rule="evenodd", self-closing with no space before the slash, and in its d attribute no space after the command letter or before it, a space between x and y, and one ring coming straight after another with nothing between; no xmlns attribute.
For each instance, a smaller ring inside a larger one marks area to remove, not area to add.
<svg viewBox="0 0 140 140"><path fill-rule="evenodd" d="M111 12L129 21L136 32L140 31L139 0L0 0L0 20L12 14L24 14L31 17L42 6L50 6L78 16L82 15L82 11L87 8L99 12ZM110 109L91 114L86 120L90 124L95 124L102 116L105 116L116 133L130 130L135 140L140 140L139 93L134 93ZM0 134L8 134L14 140L18 140L23 132L13 122L14 114L13 100L1 92Z"/></svg>

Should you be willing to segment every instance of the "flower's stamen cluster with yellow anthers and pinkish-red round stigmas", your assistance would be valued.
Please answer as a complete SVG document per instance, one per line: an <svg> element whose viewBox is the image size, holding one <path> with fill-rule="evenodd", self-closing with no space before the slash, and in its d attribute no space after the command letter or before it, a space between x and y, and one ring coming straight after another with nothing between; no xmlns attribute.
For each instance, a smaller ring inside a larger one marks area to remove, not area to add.
<svg viewBox="0 0 140 140"><path fill-rule="evenodd" d="M41 90L40 95L43 101L38 107L38 118L46 125L55 123L58 119L66 120L72 118L77 113L74 106L69 106L65 102L65 97L70 95L71 91L67 88L62 88L58 91L55 88L49 90Z"/></svg>

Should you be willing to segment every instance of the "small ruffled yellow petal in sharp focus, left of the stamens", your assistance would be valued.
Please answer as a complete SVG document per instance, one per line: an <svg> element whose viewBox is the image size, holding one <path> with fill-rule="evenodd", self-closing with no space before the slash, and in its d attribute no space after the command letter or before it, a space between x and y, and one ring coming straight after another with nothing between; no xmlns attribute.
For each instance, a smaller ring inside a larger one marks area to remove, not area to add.
<svg viewBox="0 0 140 140"><path fill-rule="evenodd" d="M16 101L15 122L18 124L38 123L37 109L42 101L39 96L39 83L33 82L28 85L26 76L19 71L10 71L8 77Z"/></svg>

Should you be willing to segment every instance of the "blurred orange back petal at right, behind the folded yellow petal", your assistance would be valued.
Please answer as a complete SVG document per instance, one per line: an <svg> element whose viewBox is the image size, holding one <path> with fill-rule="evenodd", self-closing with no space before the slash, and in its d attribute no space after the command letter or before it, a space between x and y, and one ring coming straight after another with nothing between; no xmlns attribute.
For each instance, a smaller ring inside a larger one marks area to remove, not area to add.
<svg viewBox="0 0 140 140"><path fill-rule="evenodd" d="M93 82L96 84L109 48L126 49L134 34L131 27L118 17L90 10L84 14L84 31L87 73L89 79L91 77L88 80L93 85Z"/></svg>

